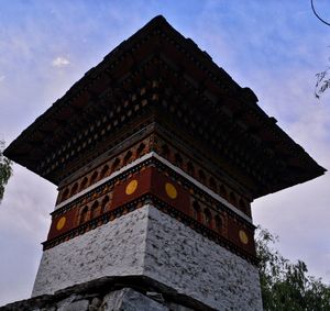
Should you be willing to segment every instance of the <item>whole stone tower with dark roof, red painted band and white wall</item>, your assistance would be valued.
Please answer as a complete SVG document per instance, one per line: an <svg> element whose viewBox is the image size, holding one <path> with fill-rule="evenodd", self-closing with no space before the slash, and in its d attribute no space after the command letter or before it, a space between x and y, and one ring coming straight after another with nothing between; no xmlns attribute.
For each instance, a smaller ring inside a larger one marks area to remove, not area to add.
<svg viewBox="0 0 330 311"><path fill-rule="evenodd" d="M250 204L324 169L256 102L163 16L86 73L6 151L58 186L32 296L113 277L262 310Z"/></svg>

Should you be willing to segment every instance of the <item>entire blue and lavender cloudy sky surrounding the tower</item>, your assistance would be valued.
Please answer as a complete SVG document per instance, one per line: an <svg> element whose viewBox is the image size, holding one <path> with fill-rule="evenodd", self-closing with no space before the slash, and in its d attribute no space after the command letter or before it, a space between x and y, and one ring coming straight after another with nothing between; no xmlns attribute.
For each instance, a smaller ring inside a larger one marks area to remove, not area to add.
<svg viewBox="0 0 330 311"><path fill-rule="evenodd" d="M315 0L330 21L328 0ZM330 169L330 27L309 0L0 0L0 138L7 145L84 74L157 14L193 38L321 166ZM253 220L282 254L330 282L330 177L268 195ZM0 204L0 306L31 296L56 186L13 166Z"/></svg>

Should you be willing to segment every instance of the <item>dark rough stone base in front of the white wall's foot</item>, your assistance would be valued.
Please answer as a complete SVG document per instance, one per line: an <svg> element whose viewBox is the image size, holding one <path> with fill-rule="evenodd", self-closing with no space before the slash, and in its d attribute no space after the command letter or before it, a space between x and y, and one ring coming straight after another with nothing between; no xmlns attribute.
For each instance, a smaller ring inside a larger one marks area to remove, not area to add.
<svg viewBox="0 0 330 311"><path fill-rule="evenodd" d="M216 310L146 277L105 277L0 307L0 311Z"/></svg>

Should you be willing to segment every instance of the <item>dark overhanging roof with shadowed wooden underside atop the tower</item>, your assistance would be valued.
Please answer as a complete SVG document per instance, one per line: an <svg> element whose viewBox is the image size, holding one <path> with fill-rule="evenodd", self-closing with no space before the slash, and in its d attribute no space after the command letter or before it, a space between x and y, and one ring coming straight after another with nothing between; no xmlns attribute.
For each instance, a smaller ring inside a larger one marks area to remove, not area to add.
<svg viewBox="0 0 330 311"><path fill-rule="evenodd" d="M4 155L58 185L64 170L75 171L116 137L158 120L221 158L219 169L239 177L254 198L324 174L256 102L251 89L156 16L86 73Z"/></svg>

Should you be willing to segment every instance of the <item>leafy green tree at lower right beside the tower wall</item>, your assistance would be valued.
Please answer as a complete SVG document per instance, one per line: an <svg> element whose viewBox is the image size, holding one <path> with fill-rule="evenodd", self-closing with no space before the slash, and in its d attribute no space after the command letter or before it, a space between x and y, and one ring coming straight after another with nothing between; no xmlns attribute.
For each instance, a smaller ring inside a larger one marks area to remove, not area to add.
<svg viewBox="0 0 330 311"><path fill-rule="evenodd" d="M304 262L290 263L271 245L278 241L267 230L260 229L256 252L265 311L330 310L330 287L307 275Z"/></svg>

